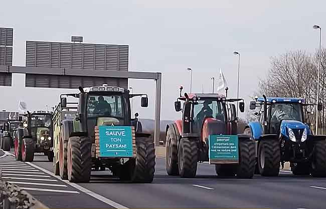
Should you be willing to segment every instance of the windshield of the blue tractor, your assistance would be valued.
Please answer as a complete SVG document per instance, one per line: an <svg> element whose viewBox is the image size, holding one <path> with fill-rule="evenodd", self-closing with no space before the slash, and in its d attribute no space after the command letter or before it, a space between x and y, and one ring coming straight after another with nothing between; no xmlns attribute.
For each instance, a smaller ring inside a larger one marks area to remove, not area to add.
<svg viewBox="0 0 326 209"><path fill-rule="evenodd" d="M301 104L274 103L271 105L271 120L296 120L302 122Z"/></svg>

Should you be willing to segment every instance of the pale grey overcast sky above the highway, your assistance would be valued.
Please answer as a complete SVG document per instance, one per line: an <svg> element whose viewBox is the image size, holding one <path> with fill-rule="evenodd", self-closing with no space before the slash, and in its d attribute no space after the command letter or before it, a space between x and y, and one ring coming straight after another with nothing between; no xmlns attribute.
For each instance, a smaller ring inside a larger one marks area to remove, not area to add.
<svg viewBox="0 0 326 209"><path fill-rule="evenodd" d="M0 27L14 28L13 65L25 66L26 41L129 45L129 71L162 73L161 119L180 116L174 111L179 86L212 92L212 76L221 68L236 96L238 59L240 97L246 101L258 79L270 67L269 59L289 50L314 52L318 33L313 24L326 27L325 1L2 1ZM324 39L322 39L323 44ZM59 102L60 93L73 90L25 88L25 76L15 75L13 87L0 87L1 109L18 110L18 100L29 109ZM149 107L134 112L153 118L154 81L129 79L134 93L147 93ZM243 114L241 116L244 116Z"/></svg>

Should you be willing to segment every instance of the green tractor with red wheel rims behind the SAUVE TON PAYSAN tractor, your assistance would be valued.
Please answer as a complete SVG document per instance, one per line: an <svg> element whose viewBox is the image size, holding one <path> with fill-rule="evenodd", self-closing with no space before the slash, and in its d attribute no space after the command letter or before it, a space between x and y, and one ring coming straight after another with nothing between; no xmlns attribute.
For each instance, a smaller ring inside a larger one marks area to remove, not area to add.
<svg viewBox="0 0 326 209"><path fill-rule="evenodd" d="M34 111L21 114L25 117L23 127L15 134L14 146L16 160L31 162L34 153L44 153L49 161L53 161L53 125L52 113Z"/></svg>

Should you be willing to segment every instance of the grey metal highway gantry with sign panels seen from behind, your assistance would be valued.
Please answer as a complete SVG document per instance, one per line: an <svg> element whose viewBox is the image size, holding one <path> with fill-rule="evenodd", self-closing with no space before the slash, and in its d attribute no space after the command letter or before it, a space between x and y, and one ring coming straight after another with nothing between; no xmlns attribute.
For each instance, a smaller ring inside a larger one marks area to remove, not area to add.
<svg viewBox="0 0 326 209"><path fill-rule="evenodd" d="M5 31L2 43L13 45L13 29ZM12 73L26 74L26 87L76 90L103 83L127 88L129 78L155 80L154 142L158 144L161 73L128 71L128 54L128 45L27 41L26 66L12 66L12 56L10 63L0 63L0 86L12 85Z"/></svg>

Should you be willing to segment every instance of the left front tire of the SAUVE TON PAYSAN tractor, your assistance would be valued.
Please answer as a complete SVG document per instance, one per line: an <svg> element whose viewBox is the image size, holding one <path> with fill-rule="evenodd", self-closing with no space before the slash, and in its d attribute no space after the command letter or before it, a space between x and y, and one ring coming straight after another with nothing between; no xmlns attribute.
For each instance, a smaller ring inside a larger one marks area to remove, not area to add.
<svg viewBox="0 0 326 209"><path fill-rule="evenodd" d="M70 182L89 182L92 169L91 146L88 137L69 137L67 161Z"/></svg>

